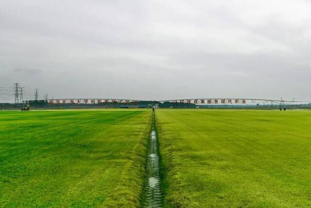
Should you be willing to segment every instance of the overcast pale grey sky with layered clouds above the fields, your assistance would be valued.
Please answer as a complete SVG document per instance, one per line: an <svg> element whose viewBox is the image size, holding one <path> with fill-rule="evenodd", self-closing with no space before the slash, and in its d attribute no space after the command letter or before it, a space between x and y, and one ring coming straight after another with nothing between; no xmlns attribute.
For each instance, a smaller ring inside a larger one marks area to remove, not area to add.
<svg viewBox="0 0 311 208"><path fill-rule="evenodd" d="M31 98L311 100L311 0L0 0L13 82Z"/></svg>

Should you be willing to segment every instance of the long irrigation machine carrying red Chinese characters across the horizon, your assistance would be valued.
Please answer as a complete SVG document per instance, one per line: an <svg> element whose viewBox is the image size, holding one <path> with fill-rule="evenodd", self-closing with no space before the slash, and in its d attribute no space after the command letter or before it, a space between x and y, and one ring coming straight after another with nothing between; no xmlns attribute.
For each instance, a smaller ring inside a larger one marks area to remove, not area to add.
<svg viewBox="0 0 311 208"><path fill-rule="evenodd" d="M104 106L117 108L243 108L278 106L279 110L286 110L289 105L303 105L306 101L292 100L271 100L271 99L253 99L253 98L194 98L194 99L173 99L173 100L133 100L133 99L111 99L111 98L64 98L64 99L45 99L23 101L22 111L29 111L31 106L36 107L83 107L83 106Z"/></svg>

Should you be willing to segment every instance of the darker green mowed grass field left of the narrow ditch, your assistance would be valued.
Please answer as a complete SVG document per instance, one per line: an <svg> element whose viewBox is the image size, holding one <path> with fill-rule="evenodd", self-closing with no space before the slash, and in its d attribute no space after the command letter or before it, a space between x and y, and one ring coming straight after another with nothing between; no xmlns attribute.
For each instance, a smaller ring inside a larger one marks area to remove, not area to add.
<svg viewBox="0 0 311 208"><path fill-rule="evenodd" d="M0 207L137 207L151 115L0 112Z"/></svg>

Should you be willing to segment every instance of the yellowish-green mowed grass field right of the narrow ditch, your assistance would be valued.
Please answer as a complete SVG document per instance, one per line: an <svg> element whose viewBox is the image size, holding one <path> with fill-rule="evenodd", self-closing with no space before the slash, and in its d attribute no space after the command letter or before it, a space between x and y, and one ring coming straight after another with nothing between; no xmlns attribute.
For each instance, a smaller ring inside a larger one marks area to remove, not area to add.
<svg viewBox="0 0 311 208"><path fill-rule="evenodd" d="M155 116L166 207L311 206L311 111Z"/></svg>

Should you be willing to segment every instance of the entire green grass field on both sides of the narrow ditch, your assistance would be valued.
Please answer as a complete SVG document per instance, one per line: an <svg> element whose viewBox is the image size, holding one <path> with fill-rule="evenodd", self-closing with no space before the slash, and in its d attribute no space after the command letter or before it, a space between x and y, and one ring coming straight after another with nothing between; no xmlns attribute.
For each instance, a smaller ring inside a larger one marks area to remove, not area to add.
<svg viewBox="0 0 311 208"><path fill-rule="evenodd" d="M139 207L151 116L0 112L0 207ZM311 111L157 109L155 118L164 207L311 206Z"/></svg>

